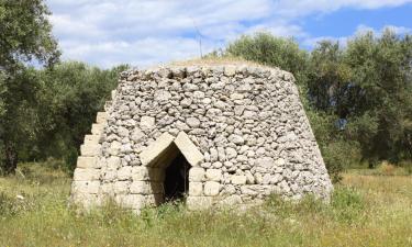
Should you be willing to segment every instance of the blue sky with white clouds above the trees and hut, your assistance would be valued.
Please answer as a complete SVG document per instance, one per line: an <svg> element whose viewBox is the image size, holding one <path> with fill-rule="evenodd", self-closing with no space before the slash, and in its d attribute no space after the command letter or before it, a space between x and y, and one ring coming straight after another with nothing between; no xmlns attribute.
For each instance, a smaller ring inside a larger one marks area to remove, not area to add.
<svg viewBox="0 0 412 247"><path fill-rule="evenodd" d="M390 27L412 34L412 0L46 0L64 60L147 67L199 57L259 31L312 49Z"/></svg>

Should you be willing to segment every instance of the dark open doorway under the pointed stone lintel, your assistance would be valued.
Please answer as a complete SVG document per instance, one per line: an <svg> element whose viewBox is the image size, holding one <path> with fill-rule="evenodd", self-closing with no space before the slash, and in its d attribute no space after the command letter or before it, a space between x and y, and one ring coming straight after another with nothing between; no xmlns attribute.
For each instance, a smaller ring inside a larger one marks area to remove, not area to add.
<svg viewBox="0 0 412 247"><path fill-rule="evenodd" d="M179 155L166 168L164 182L166 202L185 199L189 190L189 162L179 151Z"/></svg>

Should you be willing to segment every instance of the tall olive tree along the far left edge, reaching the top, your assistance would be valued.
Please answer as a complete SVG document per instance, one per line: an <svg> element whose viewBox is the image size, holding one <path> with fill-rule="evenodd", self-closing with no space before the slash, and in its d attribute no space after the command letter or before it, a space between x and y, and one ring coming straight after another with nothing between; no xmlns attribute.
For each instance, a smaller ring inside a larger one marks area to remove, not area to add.
<svg viewBox="0 0 412 247"><path fill-rule="evenodd" d="M59 57L43 0L0 1L0 172L12 173L22 139L33 137L34 71L24 63L52 66Z"/></svg>

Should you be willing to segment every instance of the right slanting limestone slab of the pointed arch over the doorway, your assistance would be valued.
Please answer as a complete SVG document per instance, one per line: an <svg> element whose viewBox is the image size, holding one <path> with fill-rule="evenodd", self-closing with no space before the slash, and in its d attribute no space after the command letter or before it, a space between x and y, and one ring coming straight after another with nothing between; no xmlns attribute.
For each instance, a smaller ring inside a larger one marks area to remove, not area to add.
<svg viewBox="0 0 412 247"><path fill-rule="evenodd" d="M202 153L200 153L185 132L180 132L177 135L175 144L192 167L199 166L203 161L204 157Z"/></svg>

